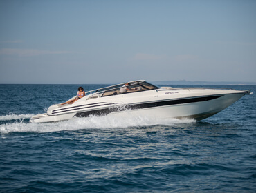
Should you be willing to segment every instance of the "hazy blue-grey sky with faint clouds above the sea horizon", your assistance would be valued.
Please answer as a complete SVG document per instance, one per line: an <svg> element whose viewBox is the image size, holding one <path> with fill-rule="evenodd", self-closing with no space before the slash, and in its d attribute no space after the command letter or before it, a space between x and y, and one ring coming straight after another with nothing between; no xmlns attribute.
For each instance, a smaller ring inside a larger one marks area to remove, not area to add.
<svg viewBox="0 0 256 193"><path fill-rule="evenodd" d="M0 0L0 83L256 82L255 0Z"/></svg>

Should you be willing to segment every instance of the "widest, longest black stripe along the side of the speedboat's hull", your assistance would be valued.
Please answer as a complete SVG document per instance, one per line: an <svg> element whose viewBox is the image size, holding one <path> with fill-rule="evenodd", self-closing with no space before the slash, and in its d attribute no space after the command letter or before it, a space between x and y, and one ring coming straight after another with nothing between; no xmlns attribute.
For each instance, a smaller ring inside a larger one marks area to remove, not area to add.
<svg viewBox="0 0 256 193"><path fill-rule="evenodd" d="M178 99L178 100L170 100L170 101L156 101L150 103L142 103L142 104L135 104L135 105L118 105L111 108L102 108L100 110L90 110L86 112L77 112L75 116L77 117L88 117L90 115L93 116L104 116L110 114L111 112L120 112L126 110L136 110L136 109L145 109L145 108L155 108L161 107L166 105L179 105L185 103L197 103L203 101L210 101L213 99L217 99L223 95L219 96L203 96L198 98L191 98L191 99Z"/></svg>

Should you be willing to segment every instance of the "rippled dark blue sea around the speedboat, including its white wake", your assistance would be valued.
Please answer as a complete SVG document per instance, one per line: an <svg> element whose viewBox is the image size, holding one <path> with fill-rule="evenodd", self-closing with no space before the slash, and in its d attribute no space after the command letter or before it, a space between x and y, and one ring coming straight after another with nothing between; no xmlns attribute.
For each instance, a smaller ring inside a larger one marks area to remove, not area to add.
<svg viewBox="0 0 256 193"><path fill-rule="evenodd" d="M256 85L210 85L255 94L198 122L29 123L79 86L106 85L0 85L0 192L256 192Z"/></svg>

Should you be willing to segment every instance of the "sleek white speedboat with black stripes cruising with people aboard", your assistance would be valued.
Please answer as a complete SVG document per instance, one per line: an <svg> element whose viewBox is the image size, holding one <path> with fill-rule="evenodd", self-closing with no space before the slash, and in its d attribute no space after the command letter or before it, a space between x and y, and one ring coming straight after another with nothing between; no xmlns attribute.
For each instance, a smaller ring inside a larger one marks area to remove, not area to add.
<svg viewBox="0 0 256 193"><path fill-rule="evenodd" d="M30 122L55 122L107 114L200 121L251 93L248 90L219 88L158 87L141 80L90 90L85 94L86 96L72 104L51 105L46 113L31 117Z"/></svg>

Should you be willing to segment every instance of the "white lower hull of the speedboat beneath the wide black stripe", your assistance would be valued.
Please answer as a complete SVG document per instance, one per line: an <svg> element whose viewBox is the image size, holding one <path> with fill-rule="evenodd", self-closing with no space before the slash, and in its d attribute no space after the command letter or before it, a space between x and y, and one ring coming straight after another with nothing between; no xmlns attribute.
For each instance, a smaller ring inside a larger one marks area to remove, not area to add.
<svg viewBox="0 0 256 193"><path fill-rule="evenodd" d="M246 93L239 94L226 94L225 96L221 96L218 99L213 99L210 101L201 101L196 103L183 103L177 105L165 105L161 107L153 107L153 108L142 108L142 109L134 109L130 110L129 108L120 108L119 111L104 113L102 115L107 114L116 114L117 116L127 116L131 114L132 116L151 116L155 118L190 118L195 119L196 121L200 121L209 116L217 114L221 110L227 108L235 101L239 100ZM67 119L73 119L73 117L77 113L69 113L69 114L60 114L57 116L49 116L48 114L39 114L33 116L33 119L30 122L33 123L44 123L44 122L55 122L55 121L64 121ZM95 116L99 116L99 114L91 114ZM79 116L78 116L79 117ZM83 116L81 116L83 117Z"/></svg>

